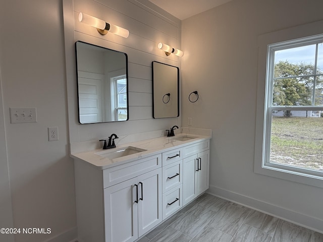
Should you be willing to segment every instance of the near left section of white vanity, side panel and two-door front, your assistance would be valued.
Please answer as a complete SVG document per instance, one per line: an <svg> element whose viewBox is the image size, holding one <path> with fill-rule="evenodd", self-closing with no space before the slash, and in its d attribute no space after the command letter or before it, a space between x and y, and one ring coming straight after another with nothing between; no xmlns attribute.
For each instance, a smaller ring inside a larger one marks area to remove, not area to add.
<svg viewBox="0 0 323 242"><path fill-rule="evenodd" d="M75 162L80 241L134 241L162 221L161 154L98 170Z"/></svg>

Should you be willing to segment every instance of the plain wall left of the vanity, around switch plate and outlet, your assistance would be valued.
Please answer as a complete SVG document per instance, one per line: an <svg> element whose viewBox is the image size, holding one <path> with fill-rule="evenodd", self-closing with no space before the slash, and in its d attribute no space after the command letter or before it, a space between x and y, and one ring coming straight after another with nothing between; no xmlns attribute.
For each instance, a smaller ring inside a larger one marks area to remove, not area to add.
<svg viewBox="0 0 323 242"><path fill-rule="evenodd" d="M51 229L50 234L16 234L15 241L44 241L64 232L68 235L59 240L70 241L76 237L76 215L62 1L1 1L0 9L4 152L8 154L13 226ZM10 124L10 107L36 107L37 123ZM59 141L48 142L47 127L52 126L59 128ZM0 240L8 241L2 234Z"/></svg>

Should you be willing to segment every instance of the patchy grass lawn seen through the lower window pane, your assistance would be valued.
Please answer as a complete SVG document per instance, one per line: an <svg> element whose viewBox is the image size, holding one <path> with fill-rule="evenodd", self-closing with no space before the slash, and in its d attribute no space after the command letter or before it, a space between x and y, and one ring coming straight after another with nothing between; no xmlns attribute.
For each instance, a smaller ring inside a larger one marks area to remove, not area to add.
<svg viewBox="0 0 323 242"><path fill-rule="evenodd" d="M323 118L273 117L271 161L323 171Z"/></svg>

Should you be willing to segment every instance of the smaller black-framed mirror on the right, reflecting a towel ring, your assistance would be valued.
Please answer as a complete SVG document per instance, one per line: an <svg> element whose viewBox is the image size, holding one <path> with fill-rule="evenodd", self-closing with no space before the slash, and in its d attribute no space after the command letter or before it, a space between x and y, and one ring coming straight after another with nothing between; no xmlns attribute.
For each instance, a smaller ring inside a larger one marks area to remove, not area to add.
<svg viewBox="0 0 323 242"><path fill-rule="evenodd" d="M179 68L152 62L153 117L179 116Z"/></svg>

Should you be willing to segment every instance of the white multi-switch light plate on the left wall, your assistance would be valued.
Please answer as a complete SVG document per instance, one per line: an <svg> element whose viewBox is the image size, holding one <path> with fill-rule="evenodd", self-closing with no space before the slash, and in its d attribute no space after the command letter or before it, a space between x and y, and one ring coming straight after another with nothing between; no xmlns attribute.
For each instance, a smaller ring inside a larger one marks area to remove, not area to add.
<svg viewBox="0 0 323 242"><path fill-rule="evenodd" d="M36 108L10 108L10 123L36 123Z"/></svg>

